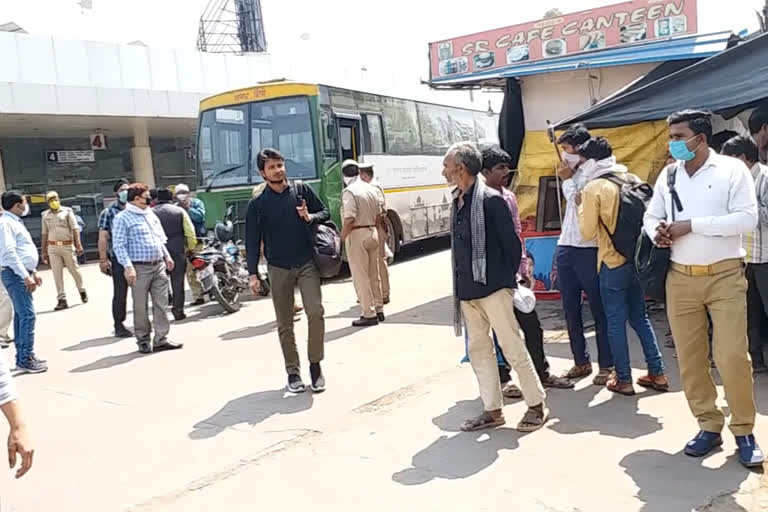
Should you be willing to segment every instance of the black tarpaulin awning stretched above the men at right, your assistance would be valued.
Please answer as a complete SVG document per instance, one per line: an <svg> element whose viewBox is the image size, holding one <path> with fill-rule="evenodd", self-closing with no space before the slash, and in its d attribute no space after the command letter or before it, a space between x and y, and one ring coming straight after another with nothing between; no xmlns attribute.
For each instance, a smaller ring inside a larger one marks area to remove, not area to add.
<svg viewBox="0 0 768 512"><path fill-rule="evenodd" d="M763 34L654 82L632 87L557 126L584 123L589 128L613 128L665 119L684 108L730 118L766 98L768 34Z"/></svg>

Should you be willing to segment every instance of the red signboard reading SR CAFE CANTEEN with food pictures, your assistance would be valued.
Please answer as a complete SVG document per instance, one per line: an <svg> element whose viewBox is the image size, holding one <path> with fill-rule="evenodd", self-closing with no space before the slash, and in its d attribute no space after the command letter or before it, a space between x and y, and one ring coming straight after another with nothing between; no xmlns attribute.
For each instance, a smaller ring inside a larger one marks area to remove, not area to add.
<svg viewBox="0 0 768 512"><path fill-rule="evenodd" d="M693 34L696 0L631 0L430 43L433 79Z"/></svg>

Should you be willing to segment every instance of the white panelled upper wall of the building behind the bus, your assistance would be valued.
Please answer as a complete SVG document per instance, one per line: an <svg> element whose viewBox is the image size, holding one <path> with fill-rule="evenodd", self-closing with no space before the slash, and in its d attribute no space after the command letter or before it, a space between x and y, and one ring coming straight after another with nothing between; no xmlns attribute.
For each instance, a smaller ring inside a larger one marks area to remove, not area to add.
<svg viewBox="0 0 768 512"><path fill-rule="evenodd" d="M194 118L202 97L271 77L264 54L201 54L0 32L4 113Z"/></svg>

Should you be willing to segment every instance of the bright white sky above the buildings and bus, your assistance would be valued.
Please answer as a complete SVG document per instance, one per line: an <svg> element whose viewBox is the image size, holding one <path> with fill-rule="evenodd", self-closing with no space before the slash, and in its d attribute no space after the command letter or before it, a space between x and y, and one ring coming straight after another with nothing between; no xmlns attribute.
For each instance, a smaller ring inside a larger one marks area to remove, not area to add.
<svg viewBox="0 0 768 512"><path fill-rule="evenodd" d="M78 0L0 3L0 23L14 21L30 34L194 49L209 0L92 0L91 10L83 10ZM550 8L568 13L613 3L617 1L482 0L481 9L472 10L477 4L466 0L262 0L262 8L276 72L289 78L312 71L331 74L337 82L376 81L397 89L395 95L412 92L413 97L426 90L420 81L429 76L431 41L536 20ZM699 32L756 30L755 10L763 4L698 0ZM448 97L464 102L468 93ZM485 101L476 97L475 107Z"/></svg>

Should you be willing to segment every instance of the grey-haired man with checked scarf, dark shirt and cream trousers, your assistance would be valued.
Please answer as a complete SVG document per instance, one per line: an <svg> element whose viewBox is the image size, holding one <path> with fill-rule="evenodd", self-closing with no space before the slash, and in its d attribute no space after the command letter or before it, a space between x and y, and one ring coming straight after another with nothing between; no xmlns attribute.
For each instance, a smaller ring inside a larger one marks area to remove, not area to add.
<svg viewBox="0 0 768 512"><path fill-rule="evenodd" d="M501 195L478 174L483 157L472 143L454 144L443 161L443 175L456 185L451 209L454 330L461 336L462 317L469 336L468 350L485 412L462 424L464 431L494 428L505 422L501 383L490 330L517 372L528 405L517 426L521 432L540 429L549 418L546 394L520 337L513 290L520 266L521 243L515 222Z"/></svg>

